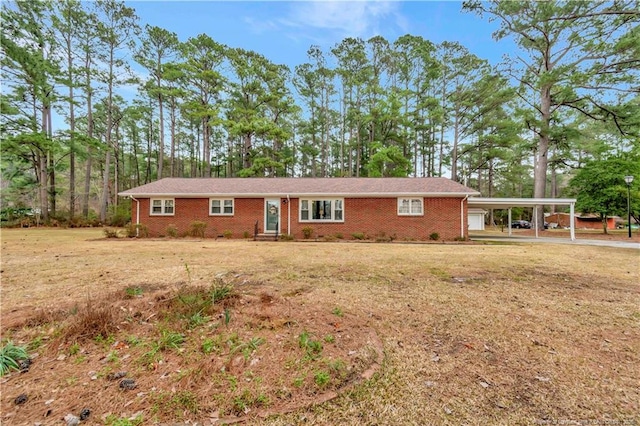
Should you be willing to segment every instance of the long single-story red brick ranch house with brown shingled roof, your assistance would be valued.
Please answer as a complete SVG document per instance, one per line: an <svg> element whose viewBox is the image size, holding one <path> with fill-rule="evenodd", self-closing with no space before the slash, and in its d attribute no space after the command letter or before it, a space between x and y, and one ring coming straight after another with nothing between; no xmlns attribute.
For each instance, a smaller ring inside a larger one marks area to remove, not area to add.
<svg viewBox="0 0 640 426"><path fill-rule="evenodd" d="M446 178L165 178L118 195L150 236L207 224L206 237L290 234L427 240L468 237L467 198Z"/></svg>

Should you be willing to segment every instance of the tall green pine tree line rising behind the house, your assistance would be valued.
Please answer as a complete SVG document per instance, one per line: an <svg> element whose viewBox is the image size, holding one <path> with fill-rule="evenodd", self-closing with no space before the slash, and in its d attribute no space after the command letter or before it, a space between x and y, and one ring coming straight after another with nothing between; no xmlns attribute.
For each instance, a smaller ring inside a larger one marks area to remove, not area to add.
<svg viewBox="0 0 640 426"><path fill-rule="evenodd" d="M118 191L168 176L447 176L544 197L589 161L640 160L638 1L464 9L517 56L376 36L289 69L117 0L3 2L3 205L104 221Z"/></svg>

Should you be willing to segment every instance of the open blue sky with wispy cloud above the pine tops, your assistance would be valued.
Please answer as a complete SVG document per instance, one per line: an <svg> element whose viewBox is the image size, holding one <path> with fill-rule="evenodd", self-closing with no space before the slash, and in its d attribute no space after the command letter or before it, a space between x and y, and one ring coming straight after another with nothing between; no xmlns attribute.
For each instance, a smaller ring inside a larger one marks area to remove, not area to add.
<svg viewBox="0 0 640 426"><path fill-rule="evenodd" d="M434 43L457 41L496 64L513 49L496 42L495 23L461 11L459 1L129 1L141 25L173 31L181 41L201 33L242 47L272 62L307 61L311 45L328 52L346 37L381 35L393 42L404 34Z"/></svg>

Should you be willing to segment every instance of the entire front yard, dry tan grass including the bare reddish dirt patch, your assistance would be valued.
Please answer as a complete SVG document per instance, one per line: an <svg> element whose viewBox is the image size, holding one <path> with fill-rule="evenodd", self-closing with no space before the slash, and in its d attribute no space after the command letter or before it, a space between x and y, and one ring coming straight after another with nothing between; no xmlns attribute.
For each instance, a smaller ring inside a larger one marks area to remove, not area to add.
<svg viewBox="0 0 640 426"><path fill-rule="evenodd" d="M100 237L3 231L3 424L640 421L635 250Z"/></svg>

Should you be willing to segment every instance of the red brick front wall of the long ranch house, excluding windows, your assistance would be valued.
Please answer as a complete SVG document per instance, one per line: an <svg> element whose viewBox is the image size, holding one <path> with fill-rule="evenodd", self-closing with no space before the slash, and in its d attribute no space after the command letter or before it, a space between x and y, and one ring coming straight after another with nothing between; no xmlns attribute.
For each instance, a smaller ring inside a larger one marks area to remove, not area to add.
<svg viewBox="0 0 640 426"><path fill-rule="evenodd" d="M289 206L286 199L280 203L280 232L302 238L302 229L311 227L313 237L336 236L353 239L352 234L362 233L368 238L396 240L428 240L437 232L441 240L453 240L460 236L460 198L425 198L423 216L398 216L396 198L345 198L344 222L317 223L298 221L298 199L289 200L291 230L287 229ZM140 223L147 226L150 236L167 235L167 227L174 225L178 235L186 235L193 221L207 224L205 236L217 237L229 230L234 238L242 238L245 232L253 236L254 223L258 232L264 227L264 199L236 198L233 216L209 216L209 199L176 198L174 216L150 216L149 199L140 199ZM137 203L132 203L135 222ZM467 203L464 203L464 235L467 233Z"/></svg>

